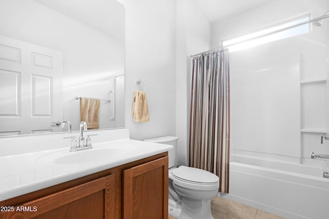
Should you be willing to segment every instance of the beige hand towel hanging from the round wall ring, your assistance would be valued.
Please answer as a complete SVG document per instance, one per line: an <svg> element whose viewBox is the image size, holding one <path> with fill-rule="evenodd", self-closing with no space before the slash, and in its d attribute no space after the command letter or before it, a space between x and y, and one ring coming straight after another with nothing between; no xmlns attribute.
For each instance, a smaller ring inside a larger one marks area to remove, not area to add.
<svg viewBox="0 0 329 219"><path fill-rule="evenodd" d="M149 122L149 106L144 91L135 91L132 115L135 122Z"/></svg>

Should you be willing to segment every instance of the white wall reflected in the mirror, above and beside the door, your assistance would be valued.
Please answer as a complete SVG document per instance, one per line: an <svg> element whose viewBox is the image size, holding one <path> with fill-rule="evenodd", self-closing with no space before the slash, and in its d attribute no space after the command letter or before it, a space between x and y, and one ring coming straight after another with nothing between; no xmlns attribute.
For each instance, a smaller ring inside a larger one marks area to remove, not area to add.
<svg viewBox="0 0 329 219"><path fill-rule="evenodd" d="M1 1L0 34L63 52L63 120L72 122L75 130L79 129L80 106L74 97L107 99L109 77L123 73L123 40L32 0ZM108 117L107 108L100 117ZM101 126L111 127L111 123L101 122Z"/></svg>

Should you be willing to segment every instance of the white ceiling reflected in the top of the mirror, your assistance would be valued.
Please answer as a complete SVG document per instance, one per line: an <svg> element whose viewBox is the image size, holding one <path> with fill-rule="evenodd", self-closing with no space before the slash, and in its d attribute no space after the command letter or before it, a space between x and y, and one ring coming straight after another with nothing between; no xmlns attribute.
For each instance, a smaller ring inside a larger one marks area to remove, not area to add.
<svg viewBox="0 0 329 219"><path fill-rule="evenodd" d="M124 7L115 0L34 0L107 35L124 40Z"/></svg>

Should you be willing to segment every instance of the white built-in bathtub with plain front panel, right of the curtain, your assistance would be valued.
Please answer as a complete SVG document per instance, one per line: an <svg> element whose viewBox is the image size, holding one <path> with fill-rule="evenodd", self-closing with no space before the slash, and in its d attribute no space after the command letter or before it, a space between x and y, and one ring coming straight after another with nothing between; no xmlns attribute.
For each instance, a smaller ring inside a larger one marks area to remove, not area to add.
<svg viewBox="0 0 329 219"><path fill-rule="evenodd" d="M231 154L230 193L220 195L285 218L329 218L328 162L302 163Z"/></svg>

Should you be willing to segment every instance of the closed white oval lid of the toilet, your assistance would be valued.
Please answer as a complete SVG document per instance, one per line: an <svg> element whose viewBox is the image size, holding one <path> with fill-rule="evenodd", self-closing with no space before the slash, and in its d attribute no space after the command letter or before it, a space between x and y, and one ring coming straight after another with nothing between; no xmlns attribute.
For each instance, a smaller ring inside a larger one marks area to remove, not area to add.
<svg viewBox="0 0 329 219"><path fill-rule="evenodd" d="M211 172L186 166L180 166L174 169L172 174L177 178L194 183L214 184L220 180L218 176Z"/></svg>

